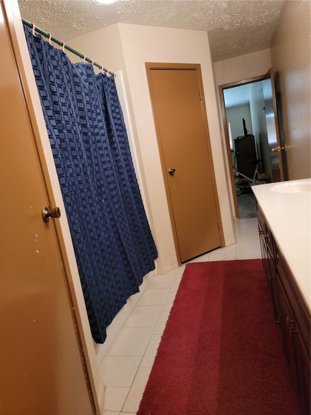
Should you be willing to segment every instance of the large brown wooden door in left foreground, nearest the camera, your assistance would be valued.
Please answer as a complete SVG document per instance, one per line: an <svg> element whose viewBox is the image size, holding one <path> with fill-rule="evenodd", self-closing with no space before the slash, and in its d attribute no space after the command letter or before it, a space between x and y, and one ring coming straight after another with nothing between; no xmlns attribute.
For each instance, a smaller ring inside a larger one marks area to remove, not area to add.
<svg viewBox="0 0 311 415"><path fill-rule="evenodd" d="M1 1L0 408L4 415L95 414L57 219L42 217L53 196L9 21Z"/></svg>

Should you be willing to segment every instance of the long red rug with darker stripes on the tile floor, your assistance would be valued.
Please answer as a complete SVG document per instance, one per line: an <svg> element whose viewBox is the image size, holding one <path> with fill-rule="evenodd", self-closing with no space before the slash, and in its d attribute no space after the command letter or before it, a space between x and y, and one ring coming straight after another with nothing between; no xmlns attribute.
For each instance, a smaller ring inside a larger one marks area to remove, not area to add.
<svg viewBox="0 0 311 415"><path fill-rule="evenodd" d="M297 415L260 259L187 264L137 415Z"/></svg>

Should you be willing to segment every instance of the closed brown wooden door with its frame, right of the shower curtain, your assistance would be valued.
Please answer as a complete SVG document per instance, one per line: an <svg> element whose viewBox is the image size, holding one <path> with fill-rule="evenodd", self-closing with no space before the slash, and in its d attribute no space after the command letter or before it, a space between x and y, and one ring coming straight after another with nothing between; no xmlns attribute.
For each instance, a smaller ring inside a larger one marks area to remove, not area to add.
<svg viewBox="0 0 311 415"><path fill-rule="evenodd" d="M146 68L176 251L184 262L221 246L200 72L197 65Z"/></svg>

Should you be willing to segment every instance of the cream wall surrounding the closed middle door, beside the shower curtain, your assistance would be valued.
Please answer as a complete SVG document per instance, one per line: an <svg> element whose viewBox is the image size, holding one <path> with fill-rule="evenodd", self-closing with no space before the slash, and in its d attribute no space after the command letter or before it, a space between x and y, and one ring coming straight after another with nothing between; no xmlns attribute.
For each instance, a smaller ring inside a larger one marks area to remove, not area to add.
<svg viewBox="0 0 311 415"><path fill-rule="evenodd" d="M158 272L177 266L145 62L200 63L225 243L234 243L213 67L206 32L116 24L70 40L70 46L124 75L146 210L159 252Z"/></svg>

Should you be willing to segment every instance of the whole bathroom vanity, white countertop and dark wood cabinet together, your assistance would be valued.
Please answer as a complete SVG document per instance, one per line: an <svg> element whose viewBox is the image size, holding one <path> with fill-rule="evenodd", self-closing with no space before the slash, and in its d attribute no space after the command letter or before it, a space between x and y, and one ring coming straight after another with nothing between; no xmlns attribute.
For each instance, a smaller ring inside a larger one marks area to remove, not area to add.
<svg viewBox="0 0 311 415"><path fill-rule="evenodd" d="M310 415L311 180L262 184L252 190L272 318L301 413Z"/></svg>

